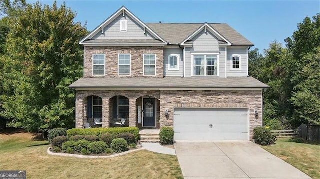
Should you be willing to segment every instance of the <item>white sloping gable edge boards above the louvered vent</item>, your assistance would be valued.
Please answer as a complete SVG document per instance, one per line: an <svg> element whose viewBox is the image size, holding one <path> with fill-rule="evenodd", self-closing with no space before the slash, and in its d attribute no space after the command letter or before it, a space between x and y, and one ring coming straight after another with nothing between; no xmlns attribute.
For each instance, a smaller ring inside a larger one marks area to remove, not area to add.
<svg viewBox="0 0 320 179"><path fill-rule="evenodd" d="M104 22L102 22L99 26L97 26L91 33L85 36L82 40L80 40L79 44L86 44L86 40L97 39L99 32L104 33L106 27L111 24L114 20L118 20L120 16L127 15L130 18L130 21L133 21L140 27L143 27L143 30L148 35L160 40L163 44L167 42L160 37L156 32L154 32L151 28L149 28L146 24L144 24L140 19L138 19L134 14L132 14L127 8L122 6L119 10L117 10L114 14L112 14L109 18L107 18Z"/></svg>

